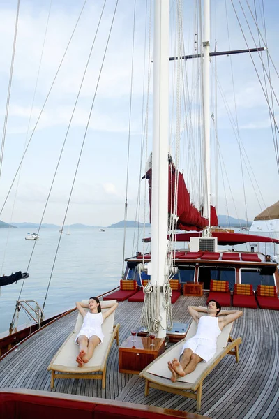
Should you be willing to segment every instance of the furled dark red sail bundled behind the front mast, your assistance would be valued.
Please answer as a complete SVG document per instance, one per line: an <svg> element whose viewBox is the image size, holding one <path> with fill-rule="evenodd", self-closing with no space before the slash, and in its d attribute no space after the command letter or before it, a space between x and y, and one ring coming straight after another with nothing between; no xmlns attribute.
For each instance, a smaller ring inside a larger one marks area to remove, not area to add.
<svg viewBox="0 0 279 419"><path fill-rule="evenodd" d="M174 213L174 198L175 198L175 173L173 163L169 163L169 214ZM186 188L184 178L181 172L178 173L178 194L177 194L177 228L180 230L200 231L209 225L209 220L204 218L199 210L190 203L190 194ZM149 181L149 207L150 207L150 222L151 222L151 186L152 186L152 168L146 172L146 179ZM216 209L211 205L211 226L218 226L218 217Z"/></svg>

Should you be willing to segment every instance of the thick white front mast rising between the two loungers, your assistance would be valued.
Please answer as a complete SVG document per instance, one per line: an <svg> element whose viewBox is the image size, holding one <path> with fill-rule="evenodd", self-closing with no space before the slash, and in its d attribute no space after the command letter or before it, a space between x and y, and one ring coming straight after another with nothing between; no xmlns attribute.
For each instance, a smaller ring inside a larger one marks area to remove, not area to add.
<svg viewBox="0 0 279 419"><path fill-rule="evenodd" d="M168 133L169 133L169 0L154 10L153 152L151 207L151 285L163 286L167 274ZM160 293L157 337L166 335L166 313Z"/></svg>

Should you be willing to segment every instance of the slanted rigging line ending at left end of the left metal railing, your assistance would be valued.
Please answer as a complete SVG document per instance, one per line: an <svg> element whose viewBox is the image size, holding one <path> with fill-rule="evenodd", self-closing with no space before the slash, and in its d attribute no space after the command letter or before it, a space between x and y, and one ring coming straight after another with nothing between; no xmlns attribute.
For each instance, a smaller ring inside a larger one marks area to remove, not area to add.
<svg viewBox="0 0 279 419"><path fill-rule="evenodd" d="M47 210L47 204L49 203L49 200L50 200L50 195L51 195L51 193L52 193L52 188L53 188L53 185L54 185L54 181L55 181L55 179L56 179L56 174L57 174L57 171L58 171L58 169L59 169L59 165L60 165L60 161L61 161L61 158L62 158L62 155L63 155L63 151L64 151L64 148L65 148L65 145L66 145L66 141L67 141L67 139L68 139L68 133L69 133L69 131L70 131L70 126L71 126L71 124L72 124L73 117L74 117L74 114L75 114L75 110L76 110L76 108L77 108L77 101L78 101L78 99L80 98L80 91L82 90L82 86L83 86L83 83L84 83L84 78L85 78L85 75L86 75L87 68L88 68L88 66L89 66L89 61L90 61L90 59L91 59L91 54L92 54L92 52L93 52L93 47L94 47L94 45L95 45L96 37L97 37L98 30L99 30L99 27L100 27L100 22L101 22L102 17L103 17L103 12L104 12L104 9L105 9L105 4L106 4L106 2L107 2L107 0L105 0L105 2L104 2L104 4L103 4L103 9L102 9L102 11L101 11L101 13L100 13L100 18L99 18L98 26L97 26L97 29L96 29L95 36L94 36L94 38L93 38L93 43L92 43L92 45L91 45L91 50L90 50L90 52L89 52L89 57L88 57L88 59L87 59L87 61L86 61L86 66L85 66L85 68L84 68L84 73L83 73L83 76L82 76L82 81L80 82L80 89L79 89L79 90L78 90L78 92L77 92L77 98L76 98L76 100L75 100L75 105L74 105L74 107L73 107L73 112L72 112L72 115L70 116L70 122L69 122L69 124L68 124L68 128L67 128L67 131L66 131L65 138L64 138L64 140L63 140L63 145L62 145L62 147L61 147L61 152L60 152L60 154L59 154L59 159L58 159L58 161L57 161L57 163L56 163L56 168L55 168L55 171L54 171L54 176L53 176L53 178L52 178L52 184L50 185L50 191L49 191L49 193L48 193L48 195L47 195L47 200L46 200L46 203L45 203L45 207L44 207L44 209L43 209L43 214L42 214L41 219L40 219L40 225L39 225L39 227L38 227L38 233L37 233L37 234L39 234L39 232L40 232L40 228L41 228L42 223L43 223L43 219L44 219L44 216L45 216L45 212L46 212L46 210ZM63 229L63 227L62 227L62 229ZM60 235L60 237L61 237L61 235ZM32 257L33 257L33 253L34 253L34 251L35 251L36 244L37 244L37 240L34 240L33 249L32 249L32 251L31 251L31 256L30 256L30 258L29 258L29 263L28 263L28 265L27 265L27 270L26 270L26 272L28 272L28 270L29 270L29 266L30 266L30 263L31 263L31 260L32 260ZM23 288L23 286L24 286L24 281L25 281L25 278L24 278L24 279L23 279L23 281L22 281L22 287L20 288L20 295L21 295L21 293L22 293L22 288ZM18 297L18 300L20 300L20 295L19 295L19 297Z"/></svg>

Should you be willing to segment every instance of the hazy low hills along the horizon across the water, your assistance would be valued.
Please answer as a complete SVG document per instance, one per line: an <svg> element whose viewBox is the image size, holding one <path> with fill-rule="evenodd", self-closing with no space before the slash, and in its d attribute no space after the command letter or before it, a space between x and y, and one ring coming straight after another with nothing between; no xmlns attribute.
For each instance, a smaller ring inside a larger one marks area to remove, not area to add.
<svg viewBox="0 0 279 419"><path fill-rule="evenodd" d="M243 219L236 219L232 216L226 216L226 215L218 215L218 226L220 227L227 227L227 228L241 228L241 227L250 227L252 222ZM64 230L70 228L72 229L82 229L82 228L142 228L144 227L144 223L140 223L139 221L119 221L119 223L111 224L111 226L88 226L86 224L70 224L70 226L64 226ZM56 224L48 224L43 223L41 226L39 223L4 223L3 221L0 221L0 228L26 228L28 230L36 230L38 228L55 228L59 230L61 226L56 226ZM150 223L145 223L146 228L150 228Z"/></svg>

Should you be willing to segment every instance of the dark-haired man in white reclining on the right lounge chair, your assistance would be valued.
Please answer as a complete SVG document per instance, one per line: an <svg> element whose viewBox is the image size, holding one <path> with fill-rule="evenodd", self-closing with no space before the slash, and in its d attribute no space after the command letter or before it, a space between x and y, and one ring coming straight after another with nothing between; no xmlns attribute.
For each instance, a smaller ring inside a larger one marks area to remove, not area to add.
<svg viewBox="0 0 279 419"><path fill-rule="evenodd" d="M188 306L188 311L197 323L197 333L183 345L179 360L174 358L167 363L173 383L177 376L183 377L193 372L199 362L211 360L216 353L217 338L225 325L242 316L241 310L221 311L220 304L215 300L210 300L207 308ZM217 318L218 315L225 317Z"/></svg>

